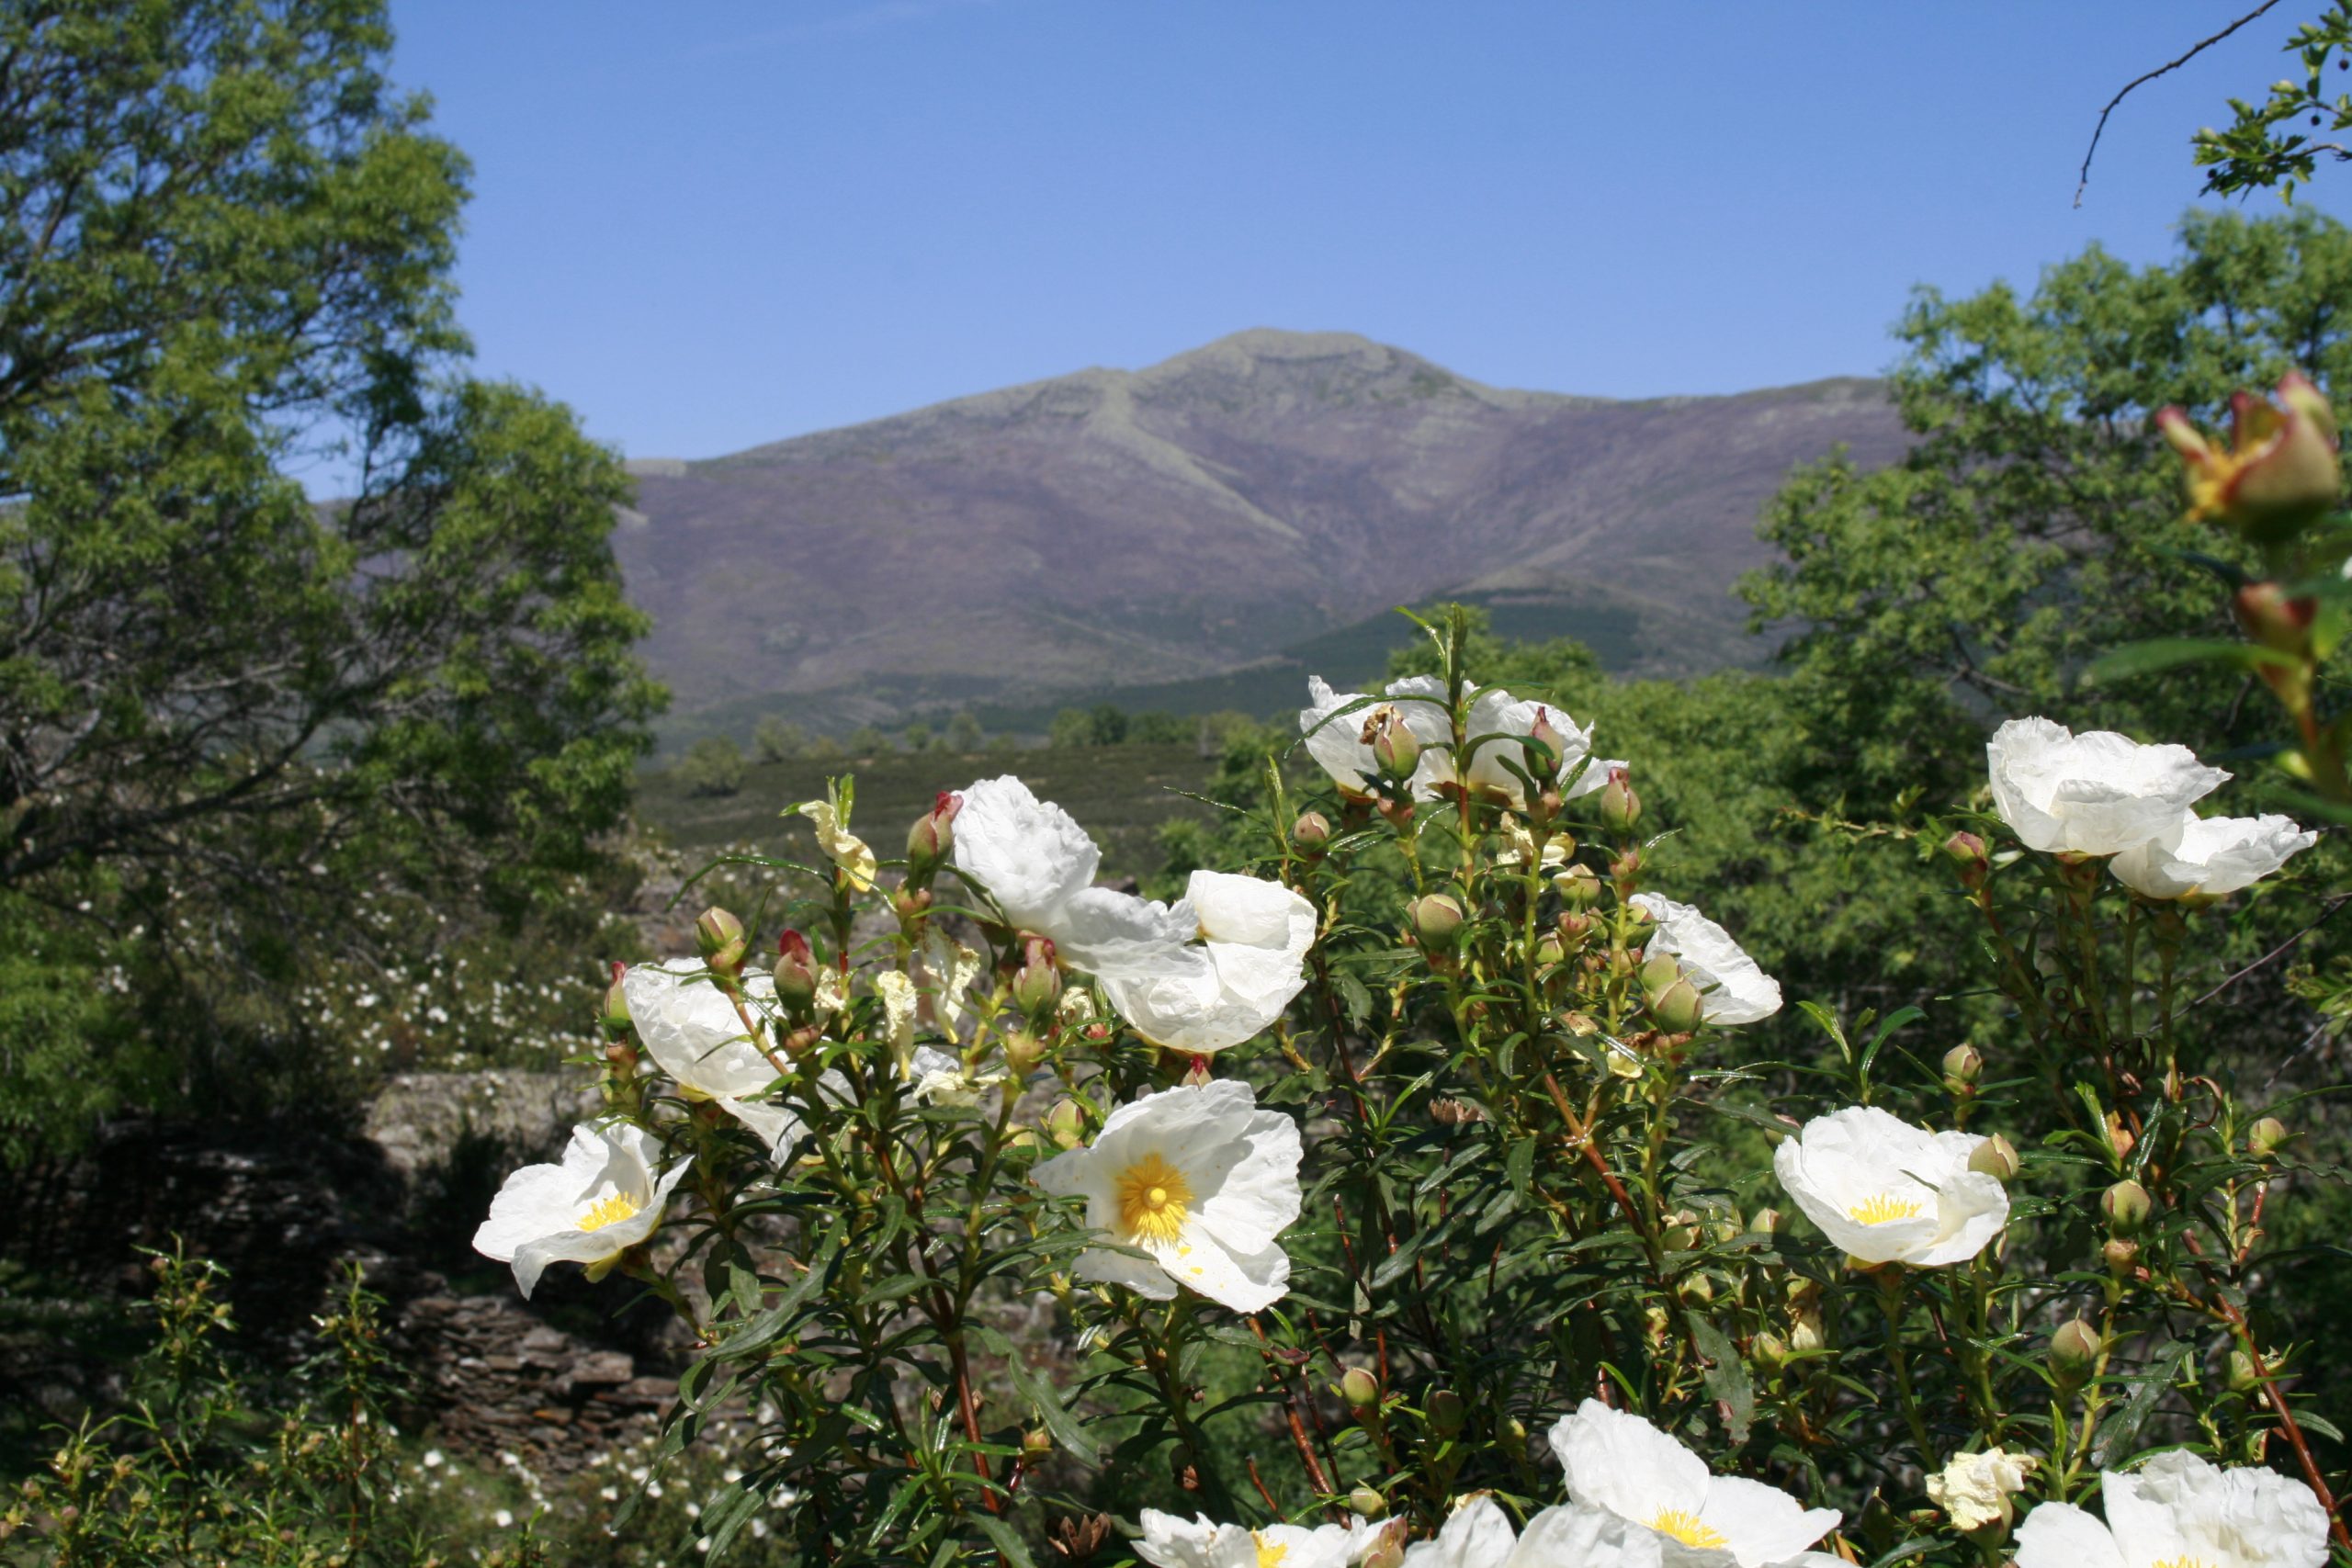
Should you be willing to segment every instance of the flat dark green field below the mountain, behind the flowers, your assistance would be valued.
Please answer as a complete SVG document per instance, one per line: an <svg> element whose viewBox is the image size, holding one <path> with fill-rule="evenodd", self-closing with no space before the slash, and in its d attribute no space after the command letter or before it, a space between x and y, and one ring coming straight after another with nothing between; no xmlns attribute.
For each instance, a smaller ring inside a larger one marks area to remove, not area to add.
<svg viewBox="0 0 2352 1568"><path fill-rule="evenodd" d="M760 762L736 795L687 795L670 771L637 776L637 818L680 849L755 844L793 858L814 856L809 830L781 820L786 806L823 795L826 778L858 780L851 827L882 858L906 853L906 830L941 790L976 778L1018 773L1103 846L1103 875L1145 877L1160 870L1160 825L1209 820L1214 811L1174 790L1207 790L1216 759L1195 745L1105 745L1021 752L884 752L830 762Z"/></svg>

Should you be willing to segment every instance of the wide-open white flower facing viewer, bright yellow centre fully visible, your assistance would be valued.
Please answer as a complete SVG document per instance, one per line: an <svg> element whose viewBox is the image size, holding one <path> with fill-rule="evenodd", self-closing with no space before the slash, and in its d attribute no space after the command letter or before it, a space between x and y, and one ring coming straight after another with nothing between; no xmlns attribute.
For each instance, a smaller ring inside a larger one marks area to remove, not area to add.
<svg viewBox="0 0 2352 1568"><path fill-rule="evenodd" d="M1298 1218L1298 1124L1256 1105L1237 1079L1162 1088L1037 1166L1040 1187L1087 1199L1087 1225L1148 1253L1089 1248L1077 1274L1152 1300L1185 1284L1235 1312L1282 1300L1291 1260L1275 1237Z"/></svg>

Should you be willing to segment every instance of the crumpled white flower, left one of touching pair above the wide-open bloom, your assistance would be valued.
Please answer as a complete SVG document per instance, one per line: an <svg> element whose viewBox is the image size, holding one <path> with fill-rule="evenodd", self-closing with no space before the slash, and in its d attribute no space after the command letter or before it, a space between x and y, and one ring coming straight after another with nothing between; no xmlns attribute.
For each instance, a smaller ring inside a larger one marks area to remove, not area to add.
<svg viewBox="0 0 2352 1568"><path fill-rule="evenodd" d="M1094 886L1103 863L1087 830L1011 773L983 778L955 813L955 870L988 889L1004 919L1054 943L1091 976L1181 973L1197 922L1185 903L1148 903Z"/></svg>

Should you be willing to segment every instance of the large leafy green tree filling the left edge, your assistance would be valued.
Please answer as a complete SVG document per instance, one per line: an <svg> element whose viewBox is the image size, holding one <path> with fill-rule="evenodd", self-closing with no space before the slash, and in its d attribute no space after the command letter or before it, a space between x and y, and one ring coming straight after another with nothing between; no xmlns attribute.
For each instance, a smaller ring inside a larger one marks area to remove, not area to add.
<svg viewBox="0 0 2352 1568"><path fill-rule="evenodd" d="M318 1058L358 896L520 922L626 813L628 480L463 378L466 162L388 45L369 0L0 9L0 929L113 997L0 1016L19 1143Z"/></svg>

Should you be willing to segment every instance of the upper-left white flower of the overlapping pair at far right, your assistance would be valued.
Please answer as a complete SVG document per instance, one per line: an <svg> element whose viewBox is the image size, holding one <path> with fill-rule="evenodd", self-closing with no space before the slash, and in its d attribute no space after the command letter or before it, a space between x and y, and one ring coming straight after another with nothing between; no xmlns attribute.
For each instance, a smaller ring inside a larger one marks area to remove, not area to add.
<svg viewBox="0 0 2352 1568"><path fill-rule="evenodd" d="M2185 745L2140 745L2051 719L2009 719L1985 743L1992 804L2027 849L2112 856L2171 832L2230 778Z"/></svg>

